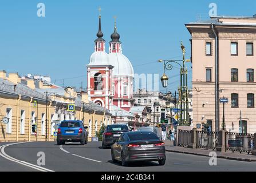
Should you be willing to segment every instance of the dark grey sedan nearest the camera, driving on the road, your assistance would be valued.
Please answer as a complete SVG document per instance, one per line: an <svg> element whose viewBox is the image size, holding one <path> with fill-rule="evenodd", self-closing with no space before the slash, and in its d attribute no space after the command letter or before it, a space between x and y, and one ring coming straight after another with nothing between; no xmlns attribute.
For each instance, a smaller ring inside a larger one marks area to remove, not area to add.
<svg viewBox="0 0 256 183"><path fill-rule="evenodd" d="M120 136L112 145L112 161L121 161L123 166L133 161L158 161L166 163L166 148L152 132L129 132Z"/></svg>

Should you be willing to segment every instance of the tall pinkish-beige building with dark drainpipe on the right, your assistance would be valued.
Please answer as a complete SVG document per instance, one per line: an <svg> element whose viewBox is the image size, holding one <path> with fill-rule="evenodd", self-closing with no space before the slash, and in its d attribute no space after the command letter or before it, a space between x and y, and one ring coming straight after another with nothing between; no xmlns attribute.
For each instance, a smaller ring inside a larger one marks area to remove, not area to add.
<svg viewBox="0 0 256 183"><path fill-rule="evenodd" d="M194 127L208 124L215 131L216 85L217 99L229 98L225 109L226 130L255 133L256 16L211 17L208 21L188 23L186 27L192 35ZM215 58L219 65L216 83ZM219 102L218 105L216 117L221 129L223 105Z"/></svg>

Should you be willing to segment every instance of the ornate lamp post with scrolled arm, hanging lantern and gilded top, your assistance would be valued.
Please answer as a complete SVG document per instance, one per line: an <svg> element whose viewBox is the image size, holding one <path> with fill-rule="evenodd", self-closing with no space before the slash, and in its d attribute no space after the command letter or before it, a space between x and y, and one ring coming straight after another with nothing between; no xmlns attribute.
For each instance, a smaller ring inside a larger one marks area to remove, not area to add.
<svg viewBox="0 0 256 183"><path fill-rule="evenodd" d="M180 103L180 125L190 125L189 124L189 113L188 113L188 77L187 77L187 67L185 66L186 62L190 62L190 59L185 59L186 49L181 42L181 49L183 53L182 60L170 60L164 61L159 60L158 62L164 63L164 74L161 77L161 82L163 87L168 87L169 77L166 75L166 70L171 71L173 69L172 63L176 63L180 66L180 87L179 87L179 103ZM183 63L183 64L181 64Z"/></svg>

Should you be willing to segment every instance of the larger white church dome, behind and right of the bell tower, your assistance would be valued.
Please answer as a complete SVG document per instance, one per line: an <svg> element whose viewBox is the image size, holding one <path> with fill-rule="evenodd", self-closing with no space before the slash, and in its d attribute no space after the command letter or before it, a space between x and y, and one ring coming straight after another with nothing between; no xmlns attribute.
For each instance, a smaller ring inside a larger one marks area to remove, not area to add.
<svg viewBox="0 0 256 183"><path fill-rule="evenodd" d="M114 66L113 76L134 76L132 63L121 53L109 53L109 65Z"/></svg>

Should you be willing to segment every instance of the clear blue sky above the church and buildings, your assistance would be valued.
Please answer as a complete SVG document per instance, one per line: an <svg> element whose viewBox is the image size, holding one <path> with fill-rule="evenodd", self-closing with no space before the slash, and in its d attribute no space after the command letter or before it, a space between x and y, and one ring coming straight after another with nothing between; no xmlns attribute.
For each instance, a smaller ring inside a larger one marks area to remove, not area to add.
<svg viewBox="0 0 256 183"><path fill-rule="evenodd" d="M37 3L45 3L46 17L37 17ZM0 1L0 69L22 74L50 75L62 85L86 85L86 67L93 53L101 7L104 39L110 41L114 19L123 42L123 54L135 73L163 73L157 59L180 59L180 41L190 58L190 34L184 23L208 18L208 5L218 5L218 15L256 14L256 1L135 1L135 0L26 0ZM108 46L107 46L108 48ZM191 82L191 65L188 64ZM179 70L168 71L174 92ZM69 79L68 79L69 78ZM190 84L191 86L191 84ZM166 89L160 87L162 92Z"/></svg>

